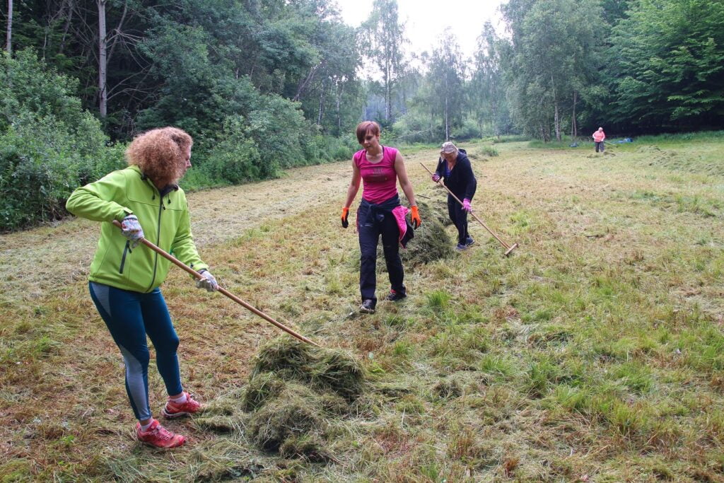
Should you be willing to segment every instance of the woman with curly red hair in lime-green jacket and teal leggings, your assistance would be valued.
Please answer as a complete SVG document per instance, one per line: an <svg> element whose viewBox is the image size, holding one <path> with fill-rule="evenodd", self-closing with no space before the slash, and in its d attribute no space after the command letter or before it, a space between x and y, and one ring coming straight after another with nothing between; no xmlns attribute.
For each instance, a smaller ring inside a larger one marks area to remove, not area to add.
<svg viewBox="0 0 724 483"><path fill-rule="evenodd" d="M181 385L176 355L179 338L159 290L170 262L136 247L147 238L201 272L198 287L210 292L218 288L196 251L186 196L177 185L191 166L192 144L190 135L175 127L138 135L126 150L127 168L77 188L66 203L72 214L103 222L90 264L90 297L121 350L126 392L138 419L138 440L156 448L180 446L185 437L168 431L151 416L146 335L156 349L156 366L169 394L161 411L164 416L172 419L195 413L201 404ZM121 222L122 230L114 227L114 220Z"/></svg>

